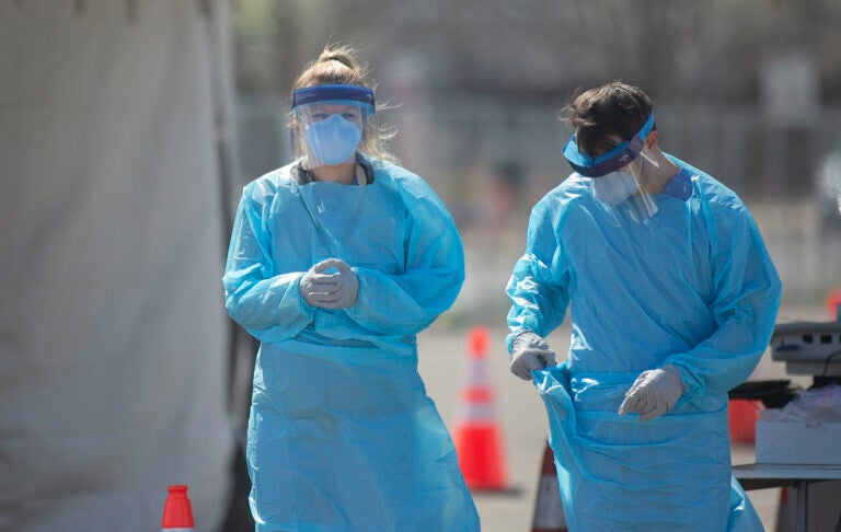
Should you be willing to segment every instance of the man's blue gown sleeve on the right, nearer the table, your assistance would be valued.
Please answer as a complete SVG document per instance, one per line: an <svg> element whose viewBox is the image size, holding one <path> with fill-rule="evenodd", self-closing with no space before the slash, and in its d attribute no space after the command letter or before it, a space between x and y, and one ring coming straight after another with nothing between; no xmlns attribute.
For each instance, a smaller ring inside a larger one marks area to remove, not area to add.
<svg viewBox="0 0 841 532"><path fill-rule="evenodd" d="M750 377L768 346L781 282L752 217L738 201L708 207L715 332L687 352L668 357L686 400L719 395Z"/></svg>

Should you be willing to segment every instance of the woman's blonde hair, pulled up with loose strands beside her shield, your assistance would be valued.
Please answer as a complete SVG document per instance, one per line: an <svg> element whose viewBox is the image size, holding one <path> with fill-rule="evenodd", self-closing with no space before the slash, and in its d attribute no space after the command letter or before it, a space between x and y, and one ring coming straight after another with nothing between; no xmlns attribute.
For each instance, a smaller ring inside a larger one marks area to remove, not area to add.
<svg viewBox="0 0 841 532"><path fill-rule="evenodd" d="M327 44L319 57L310 61L295 80L292 92L308 86L327 84L358 85L371 91L377 86L373 80L369 78L368 66L356 59L356 50L342 44ZM382 108L382 105L377 105L377 109ZM393 127L380 124L378 119L375 119L375 115L371 115L362 131L360 151L376 159L396 163L396 157L390 153L387 148L387 142L394 135L396 135L396 130ZM302 147L299 146L298 151L301 150ZM301 157L303 153L296 153L295 155Z"/></svg>

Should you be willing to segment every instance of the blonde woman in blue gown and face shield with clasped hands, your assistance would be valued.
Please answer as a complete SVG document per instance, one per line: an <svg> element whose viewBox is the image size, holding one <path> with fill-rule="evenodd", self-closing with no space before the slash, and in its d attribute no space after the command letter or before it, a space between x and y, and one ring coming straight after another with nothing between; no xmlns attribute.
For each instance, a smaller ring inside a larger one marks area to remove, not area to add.
<svg viewBox="0 0 841 532"><path fill-rule="evenodd" d="M300 157L244 187L223 277L261 342L247 432L258 531L477 531L417 372L416 335L456 300L451 217L378 146L373 92L329 46L293 86Z"/></svg>

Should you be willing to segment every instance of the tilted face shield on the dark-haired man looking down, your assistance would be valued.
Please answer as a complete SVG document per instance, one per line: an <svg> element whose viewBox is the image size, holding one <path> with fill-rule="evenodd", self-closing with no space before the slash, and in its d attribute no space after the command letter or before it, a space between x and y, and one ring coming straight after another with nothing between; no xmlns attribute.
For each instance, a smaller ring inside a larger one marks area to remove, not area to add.
<svg viewBox="0 0 841 532"><path fill-rule="evenodd" d="M648 184L659 164L645 148L653 127L654 113L631 140L596 158L578 150L575 135L564 147L564 158L589 181L592 196L617 225L641 223L657 212Z"/></svg>

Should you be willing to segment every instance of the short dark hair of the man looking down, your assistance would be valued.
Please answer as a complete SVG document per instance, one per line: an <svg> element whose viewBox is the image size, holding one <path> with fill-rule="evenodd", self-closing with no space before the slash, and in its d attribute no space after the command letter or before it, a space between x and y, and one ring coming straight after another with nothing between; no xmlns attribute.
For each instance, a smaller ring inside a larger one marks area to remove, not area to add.
<svg viewBox="0 0 841 532"><path fill-rule="evenodd" d="M652 100L633 85L611 81L585 91L564 107L578 150L590 157L630 140L652 114Z"/></svg>

